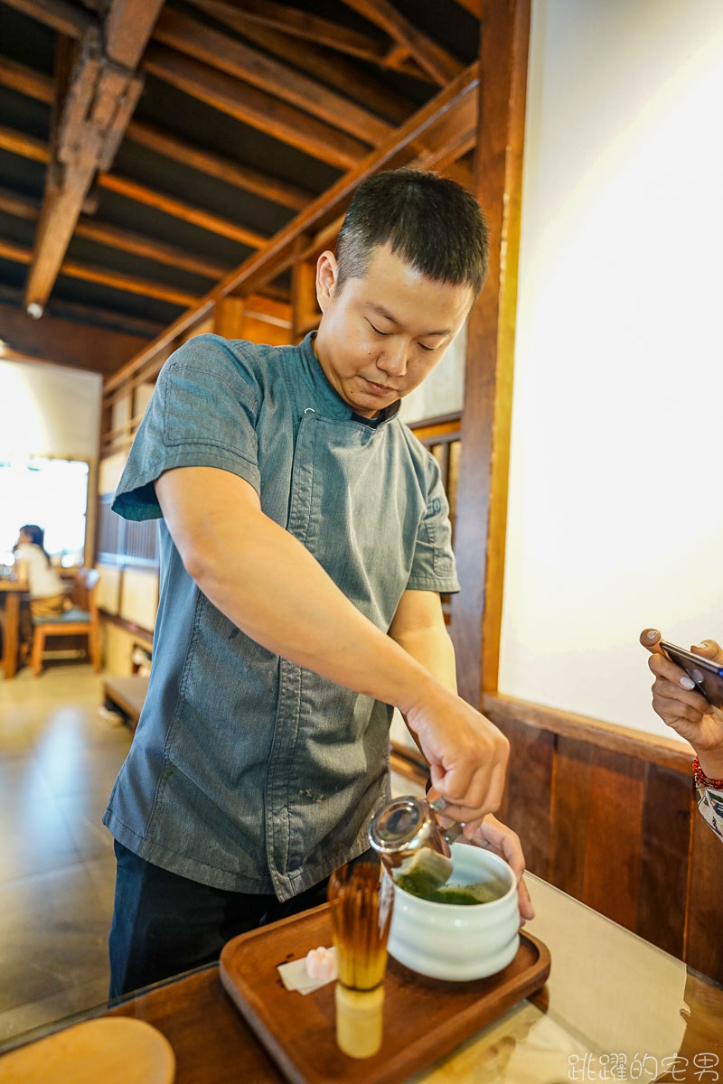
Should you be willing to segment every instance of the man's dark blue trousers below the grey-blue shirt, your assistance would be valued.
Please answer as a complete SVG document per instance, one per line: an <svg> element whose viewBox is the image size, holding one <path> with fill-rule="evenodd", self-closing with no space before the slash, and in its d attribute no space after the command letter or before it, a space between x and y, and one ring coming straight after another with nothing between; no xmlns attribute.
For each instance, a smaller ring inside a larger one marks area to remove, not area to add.
<svg viewBox="0 0 723 1084"><path fill-rule="evenodd" d="M111 997L208 964L237 933L326 902L328 878L280 903L275 895L230 892L179 877L117 841L115 852Z"/></svg>

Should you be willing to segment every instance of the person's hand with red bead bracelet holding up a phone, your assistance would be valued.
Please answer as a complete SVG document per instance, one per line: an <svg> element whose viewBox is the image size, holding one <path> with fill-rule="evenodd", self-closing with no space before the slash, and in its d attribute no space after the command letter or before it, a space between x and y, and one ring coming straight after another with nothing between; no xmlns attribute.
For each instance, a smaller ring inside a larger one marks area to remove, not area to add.
<svg viewBox="0 0 723 1084"><path fill-rule="evenodd" d="M648 666L655 674L653 708L663 723L672 726L695 749L697 757L693 771L698 788L698 809L723 840L723 709L710 705L698 693L693 679L663 655L657 629L641 633L641 644L650 651ZM713 640L703 640L690 649L723 664L723 650Z"/></svg>

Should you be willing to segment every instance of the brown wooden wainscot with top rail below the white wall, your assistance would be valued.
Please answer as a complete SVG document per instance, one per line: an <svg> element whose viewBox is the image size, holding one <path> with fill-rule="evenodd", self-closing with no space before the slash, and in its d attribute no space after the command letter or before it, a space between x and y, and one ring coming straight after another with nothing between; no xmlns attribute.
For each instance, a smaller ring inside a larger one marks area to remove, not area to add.
<svg viewBox="0 0 723 1084"><path fill-rule="evenodd" d="M557 709L486 696L512 745L500 818L528 868L723 982L723 847L687 752Z"/></svg>

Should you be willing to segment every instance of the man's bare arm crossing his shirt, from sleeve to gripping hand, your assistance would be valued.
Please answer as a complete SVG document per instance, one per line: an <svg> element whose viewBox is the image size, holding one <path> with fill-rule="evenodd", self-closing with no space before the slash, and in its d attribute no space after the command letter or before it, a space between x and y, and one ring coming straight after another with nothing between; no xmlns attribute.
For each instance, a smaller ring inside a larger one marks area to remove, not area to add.
<svg viewBox="0 0 723 1084"><path fill-rule="evenodd" d="M275 655L398 707L457 820L474 821L499 806L504 736L369 621L301 543L263 515L247 481L215 467L188 467L165 472L155 489L186 571L242 632ZM395 633L414 624L409 608L402 605L400 614L398 607Z"/></svg>

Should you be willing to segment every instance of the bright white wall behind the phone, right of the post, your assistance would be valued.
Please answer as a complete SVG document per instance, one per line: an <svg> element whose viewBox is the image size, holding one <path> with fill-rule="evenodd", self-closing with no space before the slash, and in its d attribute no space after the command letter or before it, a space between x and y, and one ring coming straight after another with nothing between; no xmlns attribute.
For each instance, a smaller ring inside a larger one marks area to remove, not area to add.
<svg viewBox="0 0 723 1084"><path fill-rule="evenodd" d="M534 0L500 687L655 733L723 640L723 4Z"/></svg>

